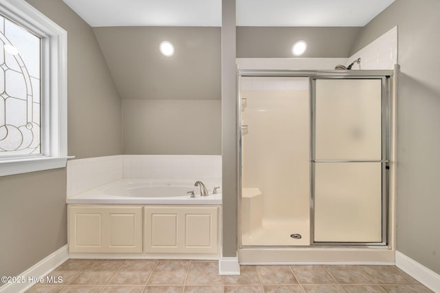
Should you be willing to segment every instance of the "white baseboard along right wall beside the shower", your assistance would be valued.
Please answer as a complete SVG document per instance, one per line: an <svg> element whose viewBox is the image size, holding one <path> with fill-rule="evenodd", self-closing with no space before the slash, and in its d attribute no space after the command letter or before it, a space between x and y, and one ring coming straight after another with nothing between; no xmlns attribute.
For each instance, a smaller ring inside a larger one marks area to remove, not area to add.
<svg viewBox="0 0 440 293"><path fill-rule="evenodd" d="M430 290L440 293L440 275L432 270L410 259L405 254L396 251L396 266L403 270L414 279L430 288Z"/></svg>

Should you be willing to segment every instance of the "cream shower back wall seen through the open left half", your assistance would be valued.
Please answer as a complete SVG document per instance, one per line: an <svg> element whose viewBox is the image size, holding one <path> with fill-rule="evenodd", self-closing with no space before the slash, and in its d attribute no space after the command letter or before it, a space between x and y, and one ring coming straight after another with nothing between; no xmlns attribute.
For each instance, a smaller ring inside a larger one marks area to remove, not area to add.
<svg viewBox="0 0 440 293"><path fill-rule="evenodd" d="M243 188L263 193L263 221L309 221L309 93L242 91Z"/></svg>

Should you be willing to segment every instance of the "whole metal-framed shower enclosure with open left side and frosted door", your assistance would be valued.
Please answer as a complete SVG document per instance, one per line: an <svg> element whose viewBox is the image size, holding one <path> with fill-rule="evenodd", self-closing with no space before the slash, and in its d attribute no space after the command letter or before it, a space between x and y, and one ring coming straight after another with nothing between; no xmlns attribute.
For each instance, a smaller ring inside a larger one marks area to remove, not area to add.
<svg viewBox="0 0 440 293"><path fill-rule="evenodd" d="M392 75L239 70L240 248L387 245Z"/></svg>

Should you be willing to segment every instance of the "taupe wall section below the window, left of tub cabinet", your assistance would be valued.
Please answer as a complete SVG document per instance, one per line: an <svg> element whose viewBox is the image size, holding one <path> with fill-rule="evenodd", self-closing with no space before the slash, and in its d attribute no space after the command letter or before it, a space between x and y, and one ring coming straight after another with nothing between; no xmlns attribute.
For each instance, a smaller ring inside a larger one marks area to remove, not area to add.
<svg viewBox="0 0 440 293"><path fill-rule="evenodd" d="M0 276L17 276L67 243L65 194L65 169L0 177Z"/></svg>

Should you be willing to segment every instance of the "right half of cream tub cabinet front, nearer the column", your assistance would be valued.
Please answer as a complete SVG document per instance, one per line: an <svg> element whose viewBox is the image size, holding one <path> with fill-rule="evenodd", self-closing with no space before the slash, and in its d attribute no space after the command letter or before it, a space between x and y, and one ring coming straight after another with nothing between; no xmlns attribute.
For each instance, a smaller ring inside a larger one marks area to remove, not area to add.
<svg viewBox="0 0 440 293"><path fill-rule="evenodd" d="M217 206L144 207L144 252L218 252Z"/></svg>

